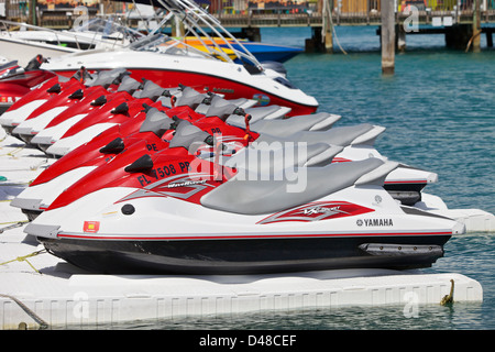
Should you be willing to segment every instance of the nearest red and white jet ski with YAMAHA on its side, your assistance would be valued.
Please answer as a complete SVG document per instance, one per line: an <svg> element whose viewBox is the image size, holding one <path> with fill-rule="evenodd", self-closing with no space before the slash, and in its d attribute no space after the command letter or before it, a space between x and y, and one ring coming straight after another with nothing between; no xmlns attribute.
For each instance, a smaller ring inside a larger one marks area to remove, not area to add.
<svg viewBox="0 0 495 352"><path fill-rule="evenodd" d="M316 144L254 142L204 158L191 151L211 135L184 123L167 148L121 153L80 178L24 231L69 263L114 274L425 267L464 231L392 198L383 182L396 163L309 167Z"/></svg>

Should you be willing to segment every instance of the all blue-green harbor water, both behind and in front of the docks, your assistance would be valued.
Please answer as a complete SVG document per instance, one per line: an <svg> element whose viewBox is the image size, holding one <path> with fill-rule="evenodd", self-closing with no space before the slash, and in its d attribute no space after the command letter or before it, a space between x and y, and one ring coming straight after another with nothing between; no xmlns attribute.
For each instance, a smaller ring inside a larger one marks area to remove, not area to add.
<svg viewBox="0 0 495 352"><path fill-rule="evenodd" d="M302 46L309 28L263 29L266 43ZM387 130L376 148L393 161L439 175L426 191L451 209L495 213L495 50L444 48L442 35L409 35L395 75L382 76L376 28L337 28L343 54L300 54L288 78L315 96L339 125L369 122ZM451 306L350 307L260 312L173 321L134 321L98 329L495 329L495 233L452 238L446 256L421 273L460 273L483 286L483 302Z"/></svg>

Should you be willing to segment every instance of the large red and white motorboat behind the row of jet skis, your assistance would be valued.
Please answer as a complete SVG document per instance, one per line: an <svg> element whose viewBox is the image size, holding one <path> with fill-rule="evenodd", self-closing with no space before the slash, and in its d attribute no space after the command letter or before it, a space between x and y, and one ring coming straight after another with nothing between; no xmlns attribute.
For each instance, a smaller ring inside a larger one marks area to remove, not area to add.
<svg viewBox="0 0 495 352"><path fill-rule="evenodd" d="M290 109L290 114L309 114L318 109L318 102L295 87L285 75L264 67L248 50L235 50L231 42L243 47L231 33L194 2L168 0L163 2L168 14L160 25L173 18L180 18L186 30L202 43L199 51L182 41L155 32L120 50L95 50L54 57L42 68L58 75L73 76L79 67L88 70L125 68L136 80L152 80L161 87L193 87L200 92L215 92L226 99L248 98L258 106L278 105ZM237 64L224 50L212 41L205 43L208 26L227 47L235 54ZM223 35L222 35L223 34Z"/></svg>

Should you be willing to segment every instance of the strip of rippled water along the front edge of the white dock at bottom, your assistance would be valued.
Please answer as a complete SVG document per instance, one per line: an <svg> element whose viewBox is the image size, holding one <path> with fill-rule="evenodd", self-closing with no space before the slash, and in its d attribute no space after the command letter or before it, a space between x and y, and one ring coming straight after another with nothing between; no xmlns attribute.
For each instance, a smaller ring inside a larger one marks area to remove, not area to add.
<svg viewBox="0 0 495 352"><path fill-rule="evenodd" d="M419 306L418 316L407 317L403 306L350 307L290 312L260 312L217 318L187 318L174 321L139 321L113 326L117 329L158 330L451 330L493 329L483 323L482 304L451 307ZM106 329L106 327L101 327Z"/></svg>

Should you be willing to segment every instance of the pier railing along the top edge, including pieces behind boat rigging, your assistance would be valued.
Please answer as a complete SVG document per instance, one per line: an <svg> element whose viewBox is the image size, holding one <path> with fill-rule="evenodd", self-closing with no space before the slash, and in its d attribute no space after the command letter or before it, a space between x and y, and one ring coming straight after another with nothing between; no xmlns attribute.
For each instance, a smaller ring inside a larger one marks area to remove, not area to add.
<svg viewBox="0 0 495 352"><path fill-rule="evenodd" d="M323 1L329 1L332 9L333 23L360 25L380 24L382 0L196 0L208 8L226 26L264 26L264 25L319 25L321 24L321 10ZM455 22L472 21L474 4L481 8L481 21L495 22L495 0L387 0L396 1L397 19L408 16L417 11L421 23L429 23L433 16L452 16ZM132 3L100 0L106 13L123 12ZM28 0L0 0L7 8L9 19L33 23L32 12L29 11ZM107 6L109 6L107 8ZM96 9L92 9L96 14ZM69 22L65 11L47 11L37 9L38 25L50 25L58 21ZM91 13L90 13L91 15ZM69 26L69 25L66 25Z"/></svg>

